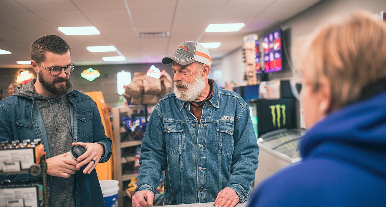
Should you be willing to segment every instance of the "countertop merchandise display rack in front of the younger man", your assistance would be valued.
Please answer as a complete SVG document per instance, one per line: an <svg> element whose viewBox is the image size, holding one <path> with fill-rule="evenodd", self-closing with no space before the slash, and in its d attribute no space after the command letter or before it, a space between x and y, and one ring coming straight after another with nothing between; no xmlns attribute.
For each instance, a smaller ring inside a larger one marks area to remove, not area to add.
<svg viewBox="0 0 386 207"><path fill-rule="evenodd" d="M19 145L17 148L0 149L3 159L0 165L0 206L49 207L46 157L36 150L38 149L32 146L19 148ZM9 156L10 151L12 157ZM17 182L7 177L17 174L30 175ZM42 176L42 183L28 179L31 175Z"/></svg>

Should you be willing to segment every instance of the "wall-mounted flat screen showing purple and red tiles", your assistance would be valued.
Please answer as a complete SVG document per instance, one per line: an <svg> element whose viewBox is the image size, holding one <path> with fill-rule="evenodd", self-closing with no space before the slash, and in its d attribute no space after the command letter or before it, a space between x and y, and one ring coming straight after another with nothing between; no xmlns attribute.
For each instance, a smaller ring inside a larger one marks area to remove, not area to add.
<svg viewBox="0 0 386 207"><path fill-rule="evenodd" d="M264 73L283 70L281 61L281 30L278 29L264 36L261 45L264 51Z"/></svg>

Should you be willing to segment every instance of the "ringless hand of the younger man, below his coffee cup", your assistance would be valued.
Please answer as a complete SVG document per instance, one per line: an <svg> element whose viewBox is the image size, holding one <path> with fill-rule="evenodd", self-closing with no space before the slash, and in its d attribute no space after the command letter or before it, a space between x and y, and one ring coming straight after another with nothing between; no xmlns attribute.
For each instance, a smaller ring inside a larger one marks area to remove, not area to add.
<svg viewBox="0 0 386 207"><path fill-rule="evenodd" d="M76 170L79 170L75 167L78 162L68 159L67 154L68 152L47 159L47 174L64 178L69 178L71 174L75 174Z"/></svg>

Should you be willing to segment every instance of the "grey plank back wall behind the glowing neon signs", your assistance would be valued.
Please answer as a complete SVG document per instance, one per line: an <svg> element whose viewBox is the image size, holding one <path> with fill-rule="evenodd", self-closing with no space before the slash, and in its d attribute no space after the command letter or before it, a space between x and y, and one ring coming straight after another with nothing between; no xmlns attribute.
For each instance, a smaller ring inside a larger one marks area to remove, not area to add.
<svg viewBox="0 0 386 207"><path fill-rule="evenodd" d="M121 70L129 71L132 73L132 77L134 77L134 72L147 72L151 65L155 65L161 71L165 69L173 77L173 74L171 73L171 65L149 63L76 66L75 70L71 72L70 78L76 90L83 92L102 91L107 105L114 105L119 100L119 95L117 94L117 72L120 72ZM89 67L98 70L101 73L100 77L91 82L80 76L80 73ZM36 77L36 73L32 70L32 68L25 69L33 72ZM20 69L0 68L0 88L3 89L4 96L7 96L7 88L9 83L16 81L18 72L20 72Z"/></svg>

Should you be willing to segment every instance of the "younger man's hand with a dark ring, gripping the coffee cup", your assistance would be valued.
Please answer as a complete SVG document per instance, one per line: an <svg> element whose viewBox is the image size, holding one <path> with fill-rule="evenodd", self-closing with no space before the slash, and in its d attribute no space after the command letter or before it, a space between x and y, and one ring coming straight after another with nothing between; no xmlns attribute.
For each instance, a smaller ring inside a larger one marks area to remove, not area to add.
<svg viewBox="0 0 386 207"><path fill-rule="evenodd" d="M97 166L100 158L103 155L103 146L98 143L83 143L83 142L74 142L72 145L82 145L86 147L86 152L78 157L77 161L79 162L76 165L77 169L80 169L83 165L88 164L87 167L83 170L83 174L90 174L94 168Z"/></svg>

